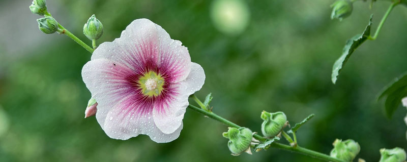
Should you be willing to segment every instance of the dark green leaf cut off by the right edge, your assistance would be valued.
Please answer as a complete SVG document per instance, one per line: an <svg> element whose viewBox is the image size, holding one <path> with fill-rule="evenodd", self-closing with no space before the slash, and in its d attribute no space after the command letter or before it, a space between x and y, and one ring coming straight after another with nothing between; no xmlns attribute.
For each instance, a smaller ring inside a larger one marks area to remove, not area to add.
<svg viewBox="0 0 407 162"><path fill-rule="evenodd" d="M389 85L387 85L377 100L380 100L385 96L387 96L385 101L386 116L391 118L394 111L400 105L401 99L407 96L407 72L396 77Z"/></svg>

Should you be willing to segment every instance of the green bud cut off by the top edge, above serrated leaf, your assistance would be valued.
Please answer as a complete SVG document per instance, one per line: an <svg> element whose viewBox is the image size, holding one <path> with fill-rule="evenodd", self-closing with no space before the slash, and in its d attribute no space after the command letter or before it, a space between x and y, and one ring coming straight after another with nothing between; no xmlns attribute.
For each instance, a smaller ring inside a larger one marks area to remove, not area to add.
<svg viewBox="0 0 407 162"><path fill-rule="evenodd" d="M351 15L353 10L353 4L349 0L338 0L331 7L333 8L331 19L339 19L340 21Z"/></svg>

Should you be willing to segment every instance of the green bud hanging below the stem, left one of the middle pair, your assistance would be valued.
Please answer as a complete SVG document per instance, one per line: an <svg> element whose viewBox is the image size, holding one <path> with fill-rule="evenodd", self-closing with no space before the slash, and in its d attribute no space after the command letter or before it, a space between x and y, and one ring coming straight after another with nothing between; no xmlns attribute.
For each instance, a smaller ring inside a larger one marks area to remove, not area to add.
<svg viewBox="0 0 407 162"><path fill-rule="evenodd" d="M243 152L251 154L250 143L253 139L253 133L248 128L229 128L227 132L224 132L223 137L229 139L227 147L229 147L232 155L240 155Z"/></svg>

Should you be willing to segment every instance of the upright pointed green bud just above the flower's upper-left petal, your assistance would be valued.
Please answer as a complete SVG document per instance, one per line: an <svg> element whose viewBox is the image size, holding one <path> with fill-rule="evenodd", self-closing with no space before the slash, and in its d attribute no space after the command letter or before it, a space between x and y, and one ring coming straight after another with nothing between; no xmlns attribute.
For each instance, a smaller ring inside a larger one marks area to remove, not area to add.
<svg viewBox="0 0 407 162"><path fill-rule="evenodd" d="M92 15L88 22L83 26L83 34L86 35L89 39L99 39L103 34L103 25L96 18L95 15Z"/></svg>

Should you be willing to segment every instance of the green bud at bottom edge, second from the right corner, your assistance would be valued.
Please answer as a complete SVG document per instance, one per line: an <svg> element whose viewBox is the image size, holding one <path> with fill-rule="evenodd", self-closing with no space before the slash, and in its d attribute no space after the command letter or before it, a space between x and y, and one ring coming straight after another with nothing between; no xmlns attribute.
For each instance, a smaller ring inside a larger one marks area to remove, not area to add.
<svg viewBox="0 0 407 162"><path fill-rule="evenodd" d="M331 156L345 161L352 161L360 151L359 143L351 139L345 141L336 139L332 145L334 148Z"/></svg>

